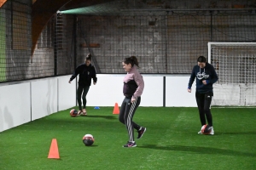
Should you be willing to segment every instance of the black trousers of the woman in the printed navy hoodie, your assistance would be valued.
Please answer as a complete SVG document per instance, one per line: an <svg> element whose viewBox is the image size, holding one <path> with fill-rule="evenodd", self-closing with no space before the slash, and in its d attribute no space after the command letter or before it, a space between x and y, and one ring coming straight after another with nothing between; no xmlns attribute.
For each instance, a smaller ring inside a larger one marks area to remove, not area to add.
<svg viewBox="0 0 256 170"><path fill-rule="evenodd" d="M207 124L212 127L211 102L213 93L199 94L195 93L195 99L199 111L201 126ZM206 122L207 117L207 122Z"/></svg>

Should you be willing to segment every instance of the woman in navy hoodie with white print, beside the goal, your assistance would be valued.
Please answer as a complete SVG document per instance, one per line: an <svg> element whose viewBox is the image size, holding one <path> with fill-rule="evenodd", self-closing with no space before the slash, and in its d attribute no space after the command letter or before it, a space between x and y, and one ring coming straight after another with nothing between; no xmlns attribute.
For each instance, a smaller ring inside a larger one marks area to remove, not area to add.
<svg viewBox="0 0 256 170"><path fill-rule="evenodd" d="M214 134L212 127L212 113L211 113L211 102L213 96L212 84L218 81L218 75L214 70L213 66L207 63L207 59L204 56L200 56L197 59L197 65L194 66L187 91L191 93L191 87L196 78L196 90L195 99L200 115L201 126L207 124L212 128L210 134ZM207 122L206 122L207 117ZM202 128L201 127L201 128ZM198 132L201 134L201 131Z"/></svg>

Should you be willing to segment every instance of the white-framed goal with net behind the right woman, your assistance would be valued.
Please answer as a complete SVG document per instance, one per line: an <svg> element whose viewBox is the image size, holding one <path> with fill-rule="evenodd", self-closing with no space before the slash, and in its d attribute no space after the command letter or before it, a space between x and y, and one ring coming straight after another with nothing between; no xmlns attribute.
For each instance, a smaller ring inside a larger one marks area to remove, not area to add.
<svg viewBox="0 0 256 170"><path fill-rule="evenodd" d="M256 106L256 42L208 42L218 74L212 105Z"/></svg>

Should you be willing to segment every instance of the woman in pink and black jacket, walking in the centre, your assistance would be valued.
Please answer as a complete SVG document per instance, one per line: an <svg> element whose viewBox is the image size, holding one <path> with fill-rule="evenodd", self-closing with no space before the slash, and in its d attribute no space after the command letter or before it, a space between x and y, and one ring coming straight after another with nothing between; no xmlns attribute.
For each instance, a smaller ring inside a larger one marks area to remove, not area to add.
<svg viewBox="0 0 256 170"><path fill-rule="evenodd" d="M146 132L146 127L141 127L137 123L132 122L132 117L141 103L141 95L143 94L144 81L142 75L137 71L138 62L135 56L125 58L123 61L123 68L127 72L124 78L123 93L125 99L121 105L119 112L119 122L125 124L129 141L124 147L136 147L134 141L133 128L137 129L137 139L142 138L143 133Z"/></svg>

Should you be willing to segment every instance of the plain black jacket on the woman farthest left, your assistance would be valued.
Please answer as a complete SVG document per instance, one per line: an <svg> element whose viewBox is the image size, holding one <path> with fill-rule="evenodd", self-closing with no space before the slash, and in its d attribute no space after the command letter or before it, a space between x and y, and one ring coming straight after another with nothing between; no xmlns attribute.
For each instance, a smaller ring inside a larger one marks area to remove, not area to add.
<svg viewBox="0 0 256 170"><path fill-rule="evenodd" d="M81 86L90 86L91 78L93 82L97 82L96 70L93 65L79 65L76 70L73 72L72 77L70 77L70 81L73 81L75 77L79 75L79 85Z"/></svg>

